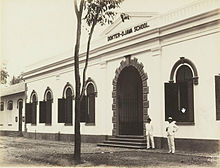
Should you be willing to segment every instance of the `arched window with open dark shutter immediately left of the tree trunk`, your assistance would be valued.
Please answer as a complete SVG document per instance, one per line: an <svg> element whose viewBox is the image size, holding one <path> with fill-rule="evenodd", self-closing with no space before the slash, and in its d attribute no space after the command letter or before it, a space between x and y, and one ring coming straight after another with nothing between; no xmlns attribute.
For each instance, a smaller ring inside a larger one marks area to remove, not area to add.
<svg viewBox="0 0 220 168"><path fill-rule="evenodd" d="M67 82L63 90L63 98L58 99L58 123L72 125L73 123L73 88Z"/></svg>

